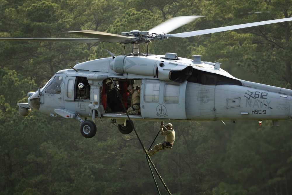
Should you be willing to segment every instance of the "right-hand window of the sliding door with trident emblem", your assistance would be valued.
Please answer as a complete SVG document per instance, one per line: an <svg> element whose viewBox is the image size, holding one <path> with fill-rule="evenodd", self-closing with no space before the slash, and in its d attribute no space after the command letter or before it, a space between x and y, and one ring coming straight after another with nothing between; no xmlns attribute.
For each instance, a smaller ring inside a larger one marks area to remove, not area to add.
<svg viewBox="0 0 292 195"><path fill-rule="evenodd" d="M179 84L166 84L164 89L164 102L165 103L178 103L180 97Z"/></svg>

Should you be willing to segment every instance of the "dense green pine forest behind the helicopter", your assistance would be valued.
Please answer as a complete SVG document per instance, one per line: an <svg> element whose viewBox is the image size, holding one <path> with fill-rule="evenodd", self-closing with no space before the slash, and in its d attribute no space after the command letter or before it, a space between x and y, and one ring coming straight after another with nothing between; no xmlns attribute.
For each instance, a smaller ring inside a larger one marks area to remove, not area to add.
<svg viewBox="0 0 292 195"><path fill-rule="evenodd" d="M1 37L66 37L98 30L120 34L148 30L182 15L203 15L176 32L291 17L285 0L0 0ZM145 46L141 44L142 52ZM96 120L86 139L77 121L32 111L18 102L58 70L95 58L119 44L0 42L0 194L157 194L134 133L120 134L110 120ZM218 61L235 77L291 88L291 22L150 44L150 52ZM126 47L131 52L131 45ZM144 51L143 51L144 50ZM152 157L172 194L292 194L291 122L173 122L173 149ZM135 121L146 147L159 123ZM164 140L159 136L155 144ZM157 179L160 193L167 194Z"/></svg>

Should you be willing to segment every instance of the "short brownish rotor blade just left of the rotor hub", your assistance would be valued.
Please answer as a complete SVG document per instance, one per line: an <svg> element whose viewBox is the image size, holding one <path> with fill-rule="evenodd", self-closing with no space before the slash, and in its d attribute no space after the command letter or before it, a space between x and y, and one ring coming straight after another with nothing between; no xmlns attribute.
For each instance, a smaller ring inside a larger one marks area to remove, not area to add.
<svg viewBox="0 0 292 195"><path fill-rule="evenodd" d="M100 41L112 42L112 43L122 42L122 41L130 41L133 39L133 37L126 37L126 36L122 36L119 34L99 32L99 31L94 31L94 30L69 31L69 32L65 32L65 33L78 34L78 35L86 36L89 38L97 38Z"/></svg>

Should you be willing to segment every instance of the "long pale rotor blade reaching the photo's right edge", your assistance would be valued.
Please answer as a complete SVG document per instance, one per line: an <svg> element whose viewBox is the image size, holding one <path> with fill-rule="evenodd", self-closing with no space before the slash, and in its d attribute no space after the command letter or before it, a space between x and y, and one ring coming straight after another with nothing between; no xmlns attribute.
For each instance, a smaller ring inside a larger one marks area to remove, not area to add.
<svg viewBox="0 0 292 195"><path fill-rule="evenodd" d="M214 32L223 32L228 30L236 30L240 28L247 28L247 27L253 27L253 26L260 26L260 25L266 25L266 24L273 24L273 23L279 23L279 22L286 22L291 21L292 18L282 18L277 20L267 20L262 22L254 22L254 23L247 23L247 24L239 24L239 25L233 25L233 26L226 26L226 27L219 27L219 28L211 28L206 30L197 30L197 31L191 31L191 32L182 32L182 33L176 33L176 34L167 34L165 37L193 37L198 36L202 34L211 34Z"/></svg>

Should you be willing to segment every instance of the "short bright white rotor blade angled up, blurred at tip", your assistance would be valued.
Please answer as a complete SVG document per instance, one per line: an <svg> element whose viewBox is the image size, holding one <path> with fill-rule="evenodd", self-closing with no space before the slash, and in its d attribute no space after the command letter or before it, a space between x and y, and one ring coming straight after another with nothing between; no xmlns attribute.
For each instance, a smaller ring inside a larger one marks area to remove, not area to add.
<svg viewBox="0 0 292 195"><path fill-rule="evenodd" d="M164 23L161 23L157 25L156 27L148 30L148 32L149 34L152 34L152 33L166 34L201 17L204 17L204 16L189 15L189 16L179 16L175 18L170 18L169 20L166 20Z"/></svg>

